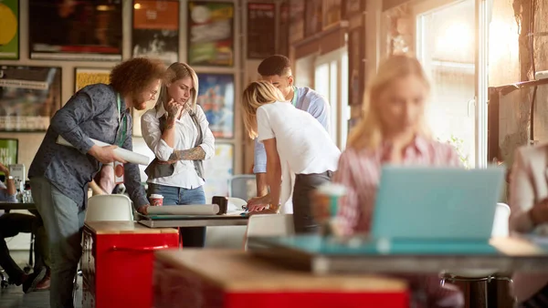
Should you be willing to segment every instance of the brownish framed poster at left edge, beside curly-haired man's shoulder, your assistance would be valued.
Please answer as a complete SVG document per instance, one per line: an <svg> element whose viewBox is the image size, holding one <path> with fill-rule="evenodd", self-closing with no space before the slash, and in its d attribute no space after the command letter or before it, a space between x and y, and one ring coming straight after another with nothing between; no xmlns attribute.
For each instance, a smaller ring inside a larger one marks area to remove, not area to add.
<svg viewBox="0 0 548 308"><path fill-rule="evenodd" d="M46 131L60 107L60 67L0 66L0 131Z"/></svg>

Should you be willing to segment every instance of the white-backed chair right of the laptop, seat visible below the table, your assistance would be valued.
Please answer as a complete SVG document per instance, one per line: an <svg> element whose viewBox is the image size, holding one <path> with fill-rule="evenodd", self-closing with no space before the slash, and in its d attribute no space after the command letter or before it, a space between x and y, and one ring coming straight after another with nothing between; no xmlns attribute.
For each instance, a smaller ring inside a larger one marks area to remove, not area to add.
<svg viewBox="0 0 548 308"><path fill-rule="evenodd" d="M497 203L491 237L508 237L510 221L510 207L505 203ZM482 270L457 270L441 273L441 284L449 282L490 282L493 279L506 280L511 282L511 278L504 275L499 276L497 269ZM487 283L485 284L485 303L487 304Z"/></svg>

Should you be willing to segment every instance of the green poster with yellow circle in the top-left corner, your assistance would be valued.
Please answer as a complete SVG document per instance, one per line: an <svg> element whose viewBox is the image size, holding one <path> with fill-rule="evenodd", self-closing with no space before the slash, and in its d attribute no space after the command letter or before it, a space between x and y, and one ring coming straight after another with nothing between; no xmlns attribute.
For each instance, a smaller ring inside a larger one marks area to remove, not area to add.
<svg viewBox="0 0 548 308"><path fill-rule="evenodd" d="M0 59L19 58L19 1L0 0Z"/></svg>

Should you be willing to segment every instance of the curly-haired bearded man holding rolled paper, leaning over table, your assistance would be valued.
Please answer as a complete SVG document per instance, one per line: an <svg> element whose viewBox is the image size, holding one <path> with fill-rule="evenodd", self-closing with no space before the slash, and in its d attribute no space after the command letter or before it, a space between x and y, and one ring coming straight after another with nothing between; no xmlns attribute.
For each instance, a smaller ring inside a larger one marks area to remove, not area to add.
<svg viewBox="0 0 548 308"><path fill-rule="evenodd" d="M125 161L114 153L132 150L130 108L155 98L165 67L133 58L111 71L111 84L80 89L58 110L28 170L32 197L44 221L51 252L51 307L73 307L73 279L81 256L88 183L102 164ZM75 148L57 143L58 136ZM99 147L98 139L112 146ZM124 165L124 184L137 209L149 205L136 164Z"/></svg>

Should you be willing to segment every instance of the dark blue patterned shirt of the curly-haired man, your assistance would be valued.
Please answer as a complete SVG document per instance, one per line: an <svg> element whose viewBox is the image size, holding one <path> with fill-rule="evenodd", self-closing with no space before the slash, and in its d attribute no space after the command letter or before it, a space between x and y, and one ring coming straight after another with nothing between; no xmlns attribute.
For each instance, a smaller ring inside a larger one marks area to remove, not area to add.
<svg viewBox="0 0 548 308"><path fill-rule="evenodd" d="M132 150L132 116L111 86L96 84L84 87L60 108L47 128L46 137L28 169L28 178L43 177L79 207L87 204L88 183L99 172L101 163L86 154L97 139ZM121 118L126 117L125 139L121 136ZM76 149L58 145L61 135ZM139 167L124 165L124 184L136 208L148 204L141 186Z"/></svg>

